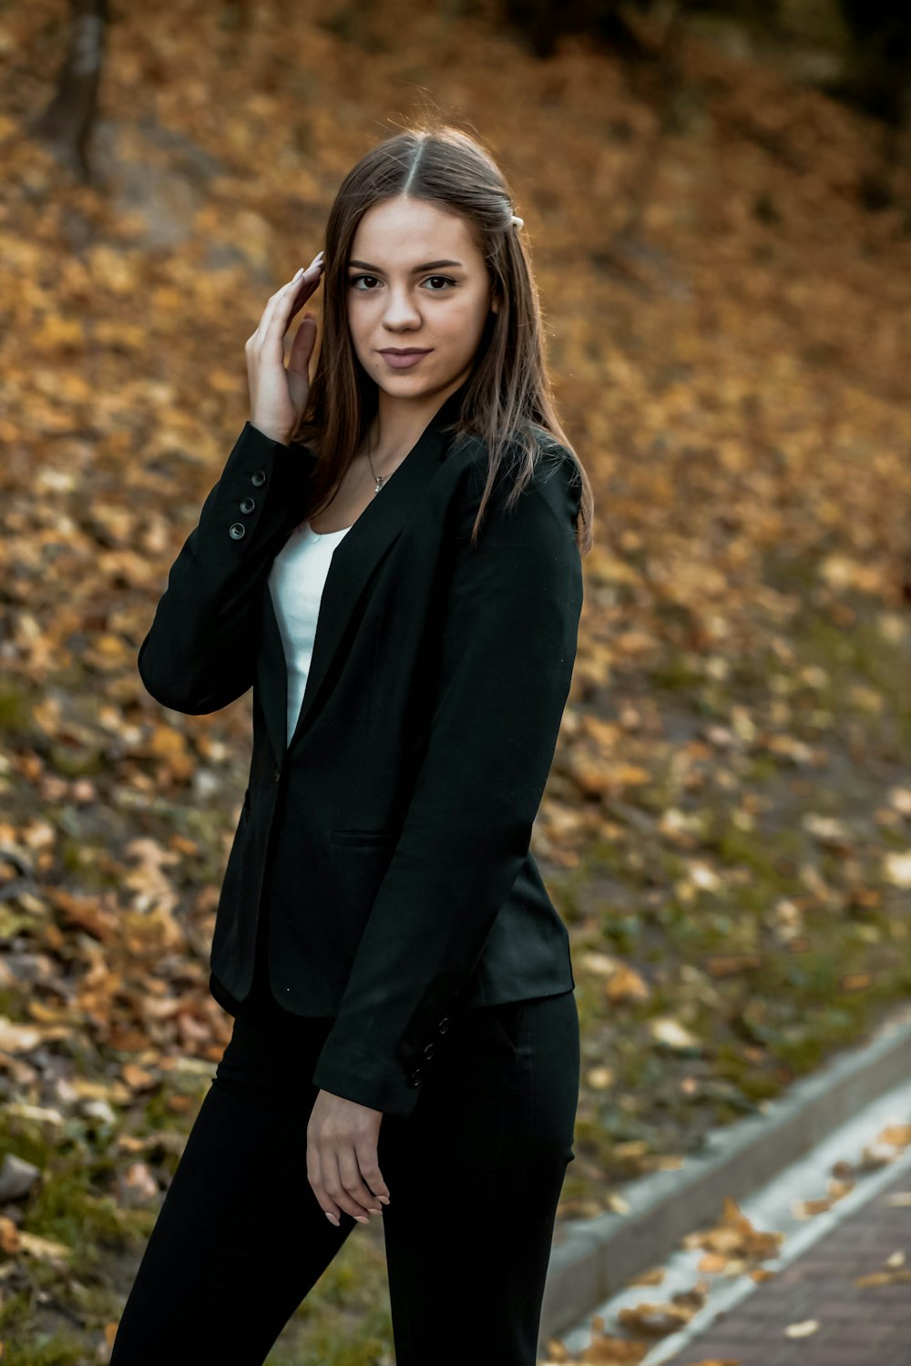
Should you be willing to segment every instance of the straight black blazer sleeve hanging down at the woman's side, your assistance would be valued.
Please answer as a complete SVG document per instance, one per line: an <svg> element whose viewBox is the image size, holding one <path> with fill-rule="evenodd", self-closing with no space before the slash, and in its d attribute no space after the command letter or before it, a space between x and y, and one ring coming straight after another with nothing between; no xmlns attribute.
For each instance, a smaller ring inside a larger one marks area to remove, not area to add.
<svg viewBox="0 0 911 1366"><path fill-rule="evenodd" d="M428 749L313 1074L384 1113L412 1112L410 1074L426 1067L530 847L582 609L567 463L508 512L492 499L477 546L477 499L458 514Z"/></svg>

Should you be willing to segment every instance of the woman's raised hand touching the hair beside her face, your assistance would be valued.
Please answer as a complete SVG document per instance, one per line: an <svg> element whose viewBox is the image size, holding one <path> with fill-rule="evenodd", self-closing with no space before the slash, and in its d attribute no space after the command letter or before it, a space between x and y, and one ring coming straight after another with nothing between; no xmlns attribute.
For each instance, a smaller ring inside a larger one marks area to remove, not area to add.
<svg viewBox="0 0 911 1366"><path fill-rule="evenodd" d="M295 313L320 284L322 268L322 251L318 251L306 270L299 270L270 296L257 331L244 344L250 423L285 445L298 430L310 398L310 357L317 340L317 320L305 313L291 343L287 369L284 337Z"/></svg>

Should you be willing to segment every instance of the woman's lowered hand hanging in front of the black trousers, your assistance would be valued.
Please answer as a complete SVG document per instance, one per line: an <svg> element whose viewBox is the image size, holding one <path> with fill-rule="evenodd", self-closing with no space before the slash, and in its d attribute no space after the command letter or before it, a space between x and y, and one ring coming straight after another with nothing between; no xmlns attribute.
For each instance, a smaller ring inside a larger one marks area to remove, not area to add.
<svg viewBox="0 0 911 1366"><path fill-rule="evenodd" d="M377 1161L382 1111L320 1091L307 1124L307 1180L331 1223L344 1210L361 1224L381 1214L389 1188Z"/></svg>

